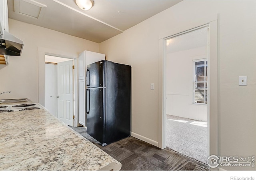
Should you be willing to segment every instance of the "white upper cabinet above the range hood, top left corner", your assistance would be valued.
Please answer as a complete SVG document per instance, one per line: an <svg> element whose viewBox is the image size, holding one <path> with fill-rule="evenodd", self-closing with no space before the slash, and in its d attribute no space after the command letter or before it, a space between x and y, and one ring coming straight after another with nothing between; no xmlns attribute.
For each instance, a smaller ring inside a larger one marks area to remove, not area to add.
<svg viewBox="0 0 256 180"><path fill-rule="evenodd" d="M7 0L0 0L0 33L9 32Z"/></svg>

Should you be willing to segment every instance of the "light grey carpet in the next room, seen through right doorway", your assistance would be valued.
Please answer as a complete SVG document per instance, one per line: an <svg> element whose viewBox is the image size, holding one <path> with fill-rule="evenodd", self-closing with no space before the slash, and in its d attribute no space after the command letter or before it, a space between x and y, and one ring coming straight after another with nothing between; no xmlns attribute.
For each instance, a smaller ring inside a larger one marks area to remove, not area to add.
<svg viewBox="0 0 256 180"><path fill-rule="evenodd" d="M206 164L208 158L207 122L167 115L166 146Z"/></svg>

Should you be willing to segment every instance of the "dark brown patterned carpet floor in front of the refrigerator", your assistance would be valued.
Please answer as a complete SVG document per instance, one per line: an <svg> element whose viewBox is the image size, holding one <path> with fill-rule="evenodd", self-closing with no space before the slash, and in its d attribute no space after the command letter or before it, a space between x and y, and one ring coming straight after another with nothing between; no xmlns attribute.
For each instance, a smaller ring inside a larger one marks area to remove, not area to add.
<svg viewBox="0 0 256 180"><path fill-rule="evenodd" d="M102 147L100 142L86 133L86 128L71 128L122 163L121 170L209 170L201 162L168 148L160 149L132 136Z"/></svg>

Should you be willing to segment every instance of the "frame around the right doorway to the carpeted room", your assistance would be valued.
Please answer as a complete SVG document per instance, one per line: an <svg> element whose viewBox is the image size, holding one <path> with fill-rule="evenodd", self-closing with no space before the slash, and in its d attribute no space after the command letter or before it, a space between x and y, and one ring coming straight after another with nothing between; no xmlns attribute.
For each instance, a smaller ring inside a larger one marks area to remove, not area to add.
<svg viewBox="0 0 256 180"><path fill-rule="evenodd" d="M208 78L210 78L210 83L208 84L208 152L209 155L218 155L218 52L217 52L217 16L211 16L210 20L198 22L198 26L191 26L189 24L187 27L182 27L179 30L175 29L173 32L169 32L165 36L159 39L159 97L158 97L158 147L166 148L166 77L165 77L165 46L166 38L179 34L180 32L185 32L187 30L192 30L196 27L200 27L209 24L209 50L208 52Z"/></svg>

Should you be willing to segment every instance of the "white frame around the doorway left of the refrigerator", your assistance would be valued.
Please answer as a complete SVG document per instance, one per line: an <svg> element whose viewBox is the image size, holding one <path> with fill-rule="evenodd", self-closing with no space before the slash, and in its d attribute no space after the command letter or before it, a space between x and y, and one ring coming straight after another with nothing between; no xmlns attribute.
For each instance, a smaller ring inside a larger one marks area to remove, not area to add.
<svg viewBox="0 0 256 180"><path fill-rule="evenodd" d="M74 126L78 126L78 54L69 54L61 50L38 47L38 102L45 105L45 55L74 60Z"/></svg>

